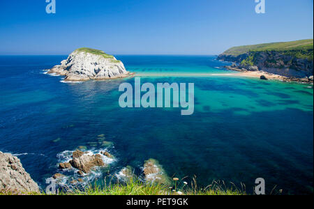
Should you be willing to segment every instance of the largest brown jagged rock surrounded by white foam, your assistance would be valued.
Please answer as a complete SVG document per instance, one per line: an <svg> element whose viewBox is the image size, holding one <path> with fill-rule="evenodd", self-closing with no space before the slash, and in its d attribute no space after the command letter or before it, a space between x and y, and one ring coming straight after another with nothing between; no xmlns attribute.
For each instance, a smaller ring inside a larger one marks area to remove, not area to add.
<svg viewBox="0 0 314 209"><path fill-rule="evenodd" d="M93 167L105 166L105 163L99 154L88 155L80 150L76 150L73 153L70 164L84 173L89 173Z"/></svg>

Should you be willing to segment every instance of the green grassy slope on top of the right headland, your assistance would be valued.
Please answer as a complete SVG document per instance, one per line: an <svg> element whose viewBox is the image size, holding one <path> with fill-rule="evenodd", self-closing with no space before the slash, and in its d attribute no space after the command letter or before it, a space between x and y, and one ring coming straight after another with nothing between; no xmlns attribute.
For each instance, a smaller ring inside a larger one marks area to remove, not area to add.
<svg viewBox="0 0 314 209"><path fill-rule="evenodd" d="M247 52L260 52L260 51L279 51L279 52L295 52L292 55L298 58L311 59L313 58L313 39L296 40L290 42L271 42L260 45L246 45L240 47L232 47L223 52L222 55L239 56Z"/></svg>

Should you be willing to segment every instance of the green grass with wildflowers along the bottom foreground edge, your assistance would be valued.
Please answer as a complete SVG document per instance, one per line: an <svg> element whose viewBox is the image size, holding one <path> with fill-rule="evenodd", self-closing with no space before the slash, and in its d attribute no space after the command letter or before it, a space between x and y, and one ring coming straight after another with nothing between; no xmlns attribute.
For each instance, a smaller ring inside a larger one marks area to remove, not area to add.
<svg viewBox="0 0 314 209"><path fill-rule="evenodd" d="M179 186L178 186L179 187ZM177 182L174 187L161 184L143 183L140 180L129 180L126 183L114 183L105 188L87 186L84 189L67 189L67 192L58 191L57 195L246 195L235 187L224 186L224 183L214 182L204 189L197 189L195 183L188 187L182 183L180 188ZM0 195L45 195L45 193L21 193L12 191L0 191Z"/></svg>

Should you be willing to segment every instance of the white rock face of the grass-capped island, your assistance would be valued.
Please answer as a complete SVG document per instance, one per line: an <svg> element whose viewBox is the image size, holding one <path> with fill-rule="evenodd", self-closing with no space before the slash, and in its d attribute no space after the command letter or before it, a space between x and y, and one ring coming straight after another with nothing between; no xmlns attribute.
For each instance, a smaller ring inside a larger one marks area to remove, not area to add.
<svg viewBox="0 0 314 209"><path fill-rule="evenodd" d="M117 61L114 56L93 54L88 51L80 51L80 49L72 52L68 59L61 61L61 65L55 65L48 70L48 73L64 75L66 76L65 81L72 82L89 79L114 79L129 75L124 64Z"/></svg>

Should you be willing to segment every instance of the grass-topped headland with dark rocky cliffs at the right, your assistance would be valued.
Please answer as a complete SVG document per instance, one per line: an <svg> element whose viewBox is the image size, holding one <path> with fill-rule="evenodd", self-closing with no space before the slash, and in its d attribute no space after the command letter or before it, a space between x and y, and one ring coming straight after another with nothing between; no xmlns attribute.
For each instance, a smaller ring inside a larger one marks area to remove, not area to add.
<svg viewBox="0 0 314 209"><path fill-rule="evenodd" d="M313 39L232 47L218 56L244 70L262 70L285 77L313 75Z"/></svg>

